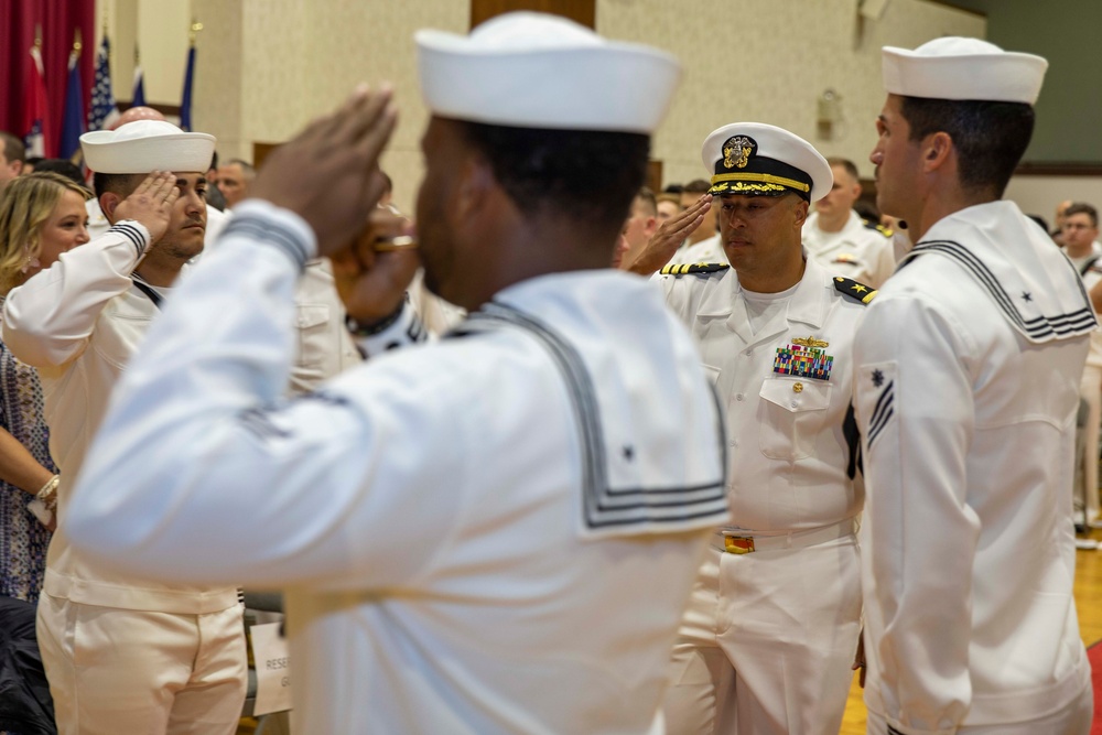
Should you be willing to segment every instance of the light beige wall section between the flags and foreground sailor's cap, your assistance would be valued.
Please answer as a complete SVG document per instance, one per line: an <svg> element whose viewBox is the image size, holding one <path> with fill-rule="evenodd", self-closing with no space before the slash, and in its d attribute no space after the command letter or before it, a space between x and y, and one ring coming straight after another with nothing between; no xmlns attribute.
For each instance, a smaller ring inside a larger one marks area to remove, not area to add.
<svg viewBox="0 0 1102 735"><path fill-rule="evenodd" d="M240 87L238 133L233 132L233 119L222 119L233 115L218 112L225 107L235 114L230 101L213 106L210 131L219 137L220 154L251 158L253 142L287 140L338 106L358 83L389 82L401 118L382 163L395 181L396 203L412 209L422 170L419 139L428 112L419 93L411 37L420 28L465 33L467 0L193 2L210 10L240 8L239 58L231 50L205 55L212 66L223 67L205 72L215 87L229 83L233 93L235 79ZM196 105L207 108L210 100L204 93L219 93L197 90Z"/></svg>

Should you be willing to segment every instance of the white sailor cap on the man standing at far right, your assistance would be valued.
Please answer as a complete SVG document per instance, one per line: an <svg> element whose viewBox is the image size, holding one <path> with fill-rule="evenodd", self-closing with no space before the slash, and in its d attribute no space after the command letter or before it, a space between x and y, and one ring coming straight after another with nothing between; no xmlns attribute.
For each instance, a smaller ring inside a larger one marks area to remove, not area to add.
<svg viewBox="0 0 1102 735"><path fill-rule="evenodd" d="M884 46L883 60L884 88L893 95L1026 105L1037 101L1048 68L1041 56L959 36L915 51Z"/></svg>

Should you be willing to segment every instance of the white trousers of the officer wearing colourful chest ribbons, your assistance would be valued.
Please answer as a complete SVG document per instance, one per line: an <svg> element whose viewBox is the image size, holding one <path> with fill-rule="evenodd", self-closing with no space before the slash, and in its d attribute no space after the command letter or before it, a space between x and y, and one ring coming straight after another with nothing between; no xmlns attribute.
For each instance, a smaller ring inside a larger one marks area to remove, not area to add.
<svg viewBox="0 0 1102 735"><path fill-rule="evenodd" d="M838 735L861 616L852 534L724 553L698 575L663 703L670 735Z"/></svg>

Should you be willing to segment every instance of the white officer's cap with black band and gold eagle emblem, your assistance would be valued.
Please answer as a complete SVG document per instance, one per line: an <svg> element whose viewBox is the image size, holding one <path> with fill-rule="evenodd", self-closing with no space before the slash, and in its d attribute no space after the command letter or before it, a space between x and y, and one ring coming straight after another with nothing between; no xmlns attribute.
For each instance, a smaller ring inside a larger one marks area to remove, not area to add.
<svg viewBox="0 0 1102 735"><path fill-rule="evenodd" d="M780 196L795 192L818 202L834 185L819 151L799 136L764 122L732 122L712 131L701 149L712 172L709 194Z"/></svg>

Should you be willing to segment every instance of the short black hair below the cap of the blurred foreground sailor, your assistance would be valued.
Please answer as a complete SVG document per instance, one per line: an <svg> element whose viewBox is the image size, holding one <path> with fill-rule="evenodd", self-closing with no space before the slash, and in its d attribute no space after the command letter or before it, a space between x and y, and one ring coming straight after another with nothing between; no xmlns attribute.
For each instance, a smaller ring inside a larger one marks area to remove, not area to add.
<svg viewBox="0 0 1102 735"><path fill-rule="evenodd" d="M618 233L647 176L650 137L642 133L454 122L530 217L566 216Z"/></svg>

